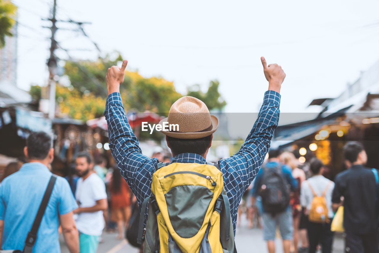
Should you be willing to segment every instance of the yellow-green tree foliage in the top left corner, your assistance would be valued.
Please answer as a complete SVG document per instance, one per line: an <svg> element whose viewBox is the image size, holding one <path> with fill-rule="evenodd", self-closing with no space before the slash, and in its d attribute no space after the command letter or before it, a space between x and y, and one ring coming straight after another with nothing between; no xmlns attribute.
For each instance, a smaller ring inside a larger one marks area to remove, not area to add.
<svg viewBox="0 0 379 253"><path fill-rule="evenodd" d="M0 48L5 46L5 36L13 36L11 28L16 20L17 7L9 0L0 0Z"/></svg>

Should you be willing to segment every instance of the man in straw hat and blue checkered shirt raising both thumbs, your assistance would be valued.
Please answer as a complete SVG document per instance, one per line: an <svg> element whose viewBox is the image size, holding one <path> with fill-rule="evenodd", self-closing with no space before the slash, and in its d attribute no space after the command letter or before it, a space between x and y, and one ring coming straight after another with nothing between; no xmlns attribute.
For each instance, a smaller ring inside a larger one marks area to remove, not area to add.
<svg viewBox="0 0 379 253"><path fill-rule="evenodd" d="M240 151L229 158L218 161L223 175L224 189L226 189L230 202L234 233L237 208L242 194L257 175L279 121L279 91L285 73L277 64L267 66L263 57L261 61L269 85L268 91L264 94L257 121ZM157 169L158 159L142 154L138 139L133 134L125 115L119 88L124 81L126 66L127 61L125 60L121 68L112 66L108 69L106 75L108 98L104 115L108 123L109 146L112 155L119 166L121 175L129 184L141 206L144 199L151 194L152 174ZM162 131L166 134L166 141L172 152L172 162L206 163L205 158L212 144L213 133L217 130L218 119L209 114L206 106L201 113L205 112L208 115L207 120L186 122L183 117L185 113L193 112L186 112L186 110L196 111L202 104L204 103L197 98L186 96L172 105L170 112L179 108L175 117L177 122L182 122L179 124L179 131ZM184 110L184 112L182 113L180 110ZM168 123L171 123L170 118Z"/></svg>

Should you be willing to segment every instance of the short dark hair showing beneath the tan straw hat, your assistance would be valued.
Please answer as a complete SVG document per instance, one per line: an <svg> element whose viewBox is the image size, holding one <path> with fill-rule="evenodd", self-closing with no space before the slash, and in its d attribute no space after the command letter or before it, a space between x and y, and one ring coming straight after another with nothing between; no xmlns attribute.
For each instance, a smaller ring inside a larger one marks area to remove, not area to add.
<svg viewBox="0 0 379 253"><path fill-rule="evenodd" d="M167 143L174 155L182 153L204 155L211 144L211 136L209 135L200 139L177 139L167 136Z"/></svg>

